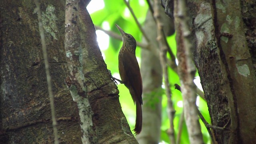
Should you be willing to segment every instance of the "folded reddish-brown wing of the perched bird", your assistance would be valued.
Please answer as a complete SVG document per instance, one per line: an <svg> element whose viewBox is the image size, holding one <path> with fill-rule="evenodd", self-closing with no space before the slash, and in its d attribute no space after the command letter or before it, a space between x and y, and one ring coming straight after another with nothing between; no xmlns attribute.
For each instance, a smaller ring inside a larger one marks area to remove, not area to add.
<svg viewBox="0 0 256 144"><path fill-rule="evenodd" d="M136 56L131 52L124 53L122 55L122 65L123 75L126 77L125 86L130 90L134 103L142 104L142 79Z"/></svg>

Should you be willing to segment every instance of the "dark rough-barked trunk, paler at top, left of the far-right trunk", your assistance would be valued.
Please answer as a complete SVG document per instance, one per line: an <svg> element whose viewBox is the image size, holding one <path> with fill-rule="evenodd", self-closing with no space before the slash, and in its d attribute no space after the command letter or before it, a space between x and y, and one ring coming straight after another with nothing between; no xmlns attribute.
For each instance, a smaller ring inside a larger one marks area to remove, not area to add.
<svg viewBox="0 0 256 144"><path fill-rule="evenodd" d="M227 95L230 96L231 93L215 41L212 13L209 11L211 4L202 2L201 6L198 5L199 2L188 4L190 18L193 18L190 24L194 31L194 61L204 89L212 125L222 127L230 118ZM230 132L227 131L214 130L214 134L216 141L220 143L228 142L230 138Z"/></svg>

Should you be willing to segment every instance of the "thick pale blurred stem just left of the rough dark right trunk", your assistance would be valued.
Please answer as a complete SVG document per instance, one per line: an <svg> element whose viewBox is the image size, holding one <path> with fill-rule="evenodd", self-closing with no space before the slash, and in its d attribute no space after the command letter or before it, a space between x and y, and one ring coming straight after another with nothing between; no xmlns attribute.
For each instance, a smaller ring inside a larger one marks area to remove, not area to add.
<svg viewBox="0 0 256 144"><path fill-rule="evenodd" d="M174 0L174 20L176 29L178 74L182 88L183 108L191 144L203 144L203 137L196 107L196 68L192 59L191 32L188 26L186 0Z"/></svg>

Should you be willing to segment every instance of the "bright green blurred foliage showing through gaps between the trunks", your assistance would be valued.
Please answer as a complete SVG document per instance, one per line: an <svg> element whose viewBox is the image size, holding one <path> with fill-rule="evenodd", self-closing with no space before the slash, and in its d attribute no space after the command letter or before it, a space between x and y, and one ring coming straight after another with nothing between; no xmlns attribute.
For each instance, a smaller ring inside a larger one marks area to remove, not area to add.
<svg viewBox="0 0 256 144"><path fill-rule="evenodd" d="M138 26L136 25L134 18L130 14L130 11L124 4L123 0L92 0L92 2L96 1L96 4L89 5L91 9L94 7L97 7L97 4L100 4L101 2L104 2L105 7L101 10L98 10L96 12L91 13L92 21L94 25L104 27L104 24L109 25L109 29L112 32L116 32L117 34L120 34L118 32L118 29L116 28L115 24L118 24L126 33L132 34L134 38L140 42L142 39L142 34L140 30L138 29ZM145 0L130 0L130 6L134 10L134 13L136 17L138 18L140 24L143 25L146 12L148 10L148 5ZM106 27L106 26L105 26ZM170 44L170 47L172 49L172 52L176 54L176 42L175 42L175 36L169 36L167 38L168 43ZM118 52L122 46L122 42L120 40L116 40L112 37L110 37L109 40L109 46L106 50L101 50L102 54L105 55L105 63L107 64L107 67L109 70L111 70L113 75L117 75L118 73ZM138 47L136 49L136 57L140 60L140 48ZM168 56L169 57L169 56ZM140 62L139 62L140 63ZM172 101L174 104L174 108L176 110L175 118L174 118L174 129L175 134L177 135L178 132L178 124L180 120L180 116L182 113L182 96L181 93L178 90L174 89L174 84L179 84L179 77L178 75L172 70L168 70L169 74L169 80L170 80L170 86L172 91ZM197 74L198 76L198 74ZM128 89L123 84L118 84L118 90L119 90L119 100L120 104L122 106L122 111L124 112L128 123L130 124L130 128L133 129L135 126L135 118L136 118L136 108L134 106L134 103L132 101L132 98L130 96L130 93ZM166 133L168 128L170 127L168 116L167 116L167 98L165 95L165 90L156 90L156 92L152 92L149 96L150 101L153 103L156 101L159 101L159 99L155 96L159 93L162 94L162 126L161 126L161 142L162 143L169 143L168 134ZM150 104L150 103L149 103ZM207 104L202 98L198 98L198 106L202 113L202 115L205 117L205 119L210 122L210 116L208 113L208 107ZM204 126L204 124L200 121L202 133L204 136L204 142L210 143L209 134ZM182 136L181 136L181 144L189 144L188 139L188 133L185 122L183 122L182 127Z"/></svg>

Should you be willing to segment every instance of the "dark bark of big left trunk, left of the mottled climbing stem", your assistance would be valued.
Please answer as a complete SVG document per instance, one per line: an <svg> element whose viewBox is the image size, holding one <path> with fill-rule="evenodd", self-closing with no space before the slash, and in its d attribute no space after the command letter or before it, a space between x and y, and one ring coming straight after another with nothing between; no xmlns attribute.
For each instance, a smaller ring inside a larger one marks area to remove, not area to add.
<svg viewBox="0 0 256 144"><path fill-rule="evenodd" d="M81 143L77 108L64 83L64 1L43 1L43 25L61 143ZM54 143L34 1L0 3L0 143Z"/></svg>

